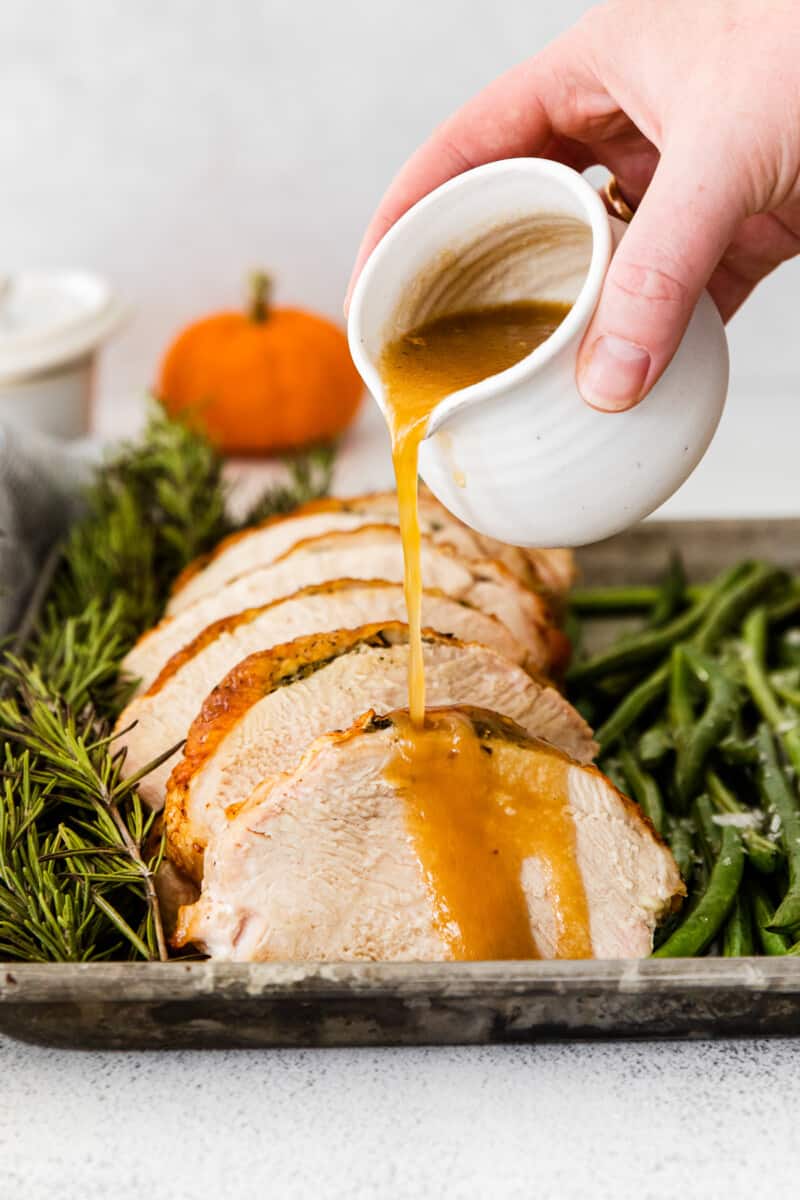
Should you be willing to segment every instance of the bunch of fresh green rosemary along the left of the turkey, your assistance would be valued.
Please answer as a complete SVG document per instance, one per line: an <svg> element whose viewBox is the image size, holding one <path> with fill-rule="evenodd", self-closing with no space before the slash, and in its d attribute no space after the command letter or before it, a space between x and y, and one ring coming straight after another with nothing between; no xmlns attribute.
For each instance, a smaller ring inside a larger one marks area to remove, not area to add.
<svg viewBox="0 0 800 1200"><path fill-rule="evenodd" d="M331 468L332 450L299 457L247 523L324 493ZM154 409L88 492L32 631L0 656L0 958L167 956L163 838L137 792L163 758L122 778L119 666L174 576L229 532L219 457Z"/></svg>

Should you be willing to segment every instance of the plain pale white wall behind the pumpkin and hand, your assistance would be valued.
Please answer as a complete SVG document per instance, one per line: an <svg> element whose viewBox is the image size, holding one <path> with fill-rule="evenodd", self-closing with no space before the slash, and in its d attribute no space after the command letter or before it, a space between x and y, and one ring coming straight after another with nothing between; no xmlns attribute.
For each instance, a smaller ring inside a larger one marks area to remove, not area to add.
<svg viewBox="0 0 800 1200"><path fill-rule="evenodd" d="M0 272L90 266L133 302L101 378L118 425L175 329L235 305L255 265L279 299L341 314L365 222L404 157L587 7L1 0ZM742 418L778 394L794 407L799 296L794 263L733 323Z"/></svg>

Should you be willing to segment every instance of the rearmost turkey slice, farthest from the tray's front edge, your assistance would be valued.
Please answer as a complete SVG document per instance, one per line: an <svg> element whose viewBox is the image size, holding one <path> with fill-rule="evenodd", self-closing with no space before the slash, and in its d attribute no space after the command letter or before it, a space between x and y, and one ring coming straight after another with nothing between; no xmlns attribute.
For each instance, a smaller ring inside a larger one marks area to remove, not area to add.
<svg viewBox="0 0 800 1200"><path fill-rule="evenodd" d="M179 576L167 612L172 616L203 596L213 595L231 580L273 563L299 541L326 533L342 533L365 524L397 524L397 494L380 492L350 499L324 499L305 504L285 517L273 517L225 538L217 548ZM485 538L463 524L429 492L420 493L420 528L434 545L447 546L464 558L493 558L504 563L523 583L561 595L573 577L570 551L518 550Z"/></svg>

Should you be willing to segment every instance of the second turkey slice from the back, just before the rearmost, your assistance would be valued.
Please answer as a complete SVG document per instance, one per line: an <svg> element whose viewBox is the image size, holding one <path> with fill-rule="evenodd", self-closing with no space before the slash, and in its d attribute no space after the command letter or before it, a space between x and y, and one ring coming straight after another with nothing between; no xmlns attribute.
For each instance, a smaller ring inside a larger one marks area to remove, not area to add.
<svg viewBox="0 0 800 1200"><path fill-rule="evenodd" d="M242 575L174 617L164 617L139 638L122 670L138 678L139 690L144 690L173 654L212 622L293 595L300 588L341 578L402 582L399 530L395 526L365 526L300 542L277 562ZM501 620L528 650L530 670L549 674L564 662L567 643L554 626L546 601L501 563L471 562L423 539L422 578L426 588L467 600Z"/></svg>

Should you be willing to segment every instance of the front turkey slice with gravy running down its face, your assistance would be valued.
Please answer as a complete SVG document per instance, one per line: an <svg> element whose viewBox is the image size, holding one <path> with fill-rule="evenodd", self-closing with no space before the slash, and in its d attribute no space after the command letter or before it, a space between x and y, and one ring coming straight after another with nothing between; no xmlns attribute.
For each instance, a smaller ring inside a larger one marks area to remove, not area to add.
<svg viewBox="0 0 800 1200"><path fill-rule="evenodd" d="M215 833L201 896L181 910L178 944L194 942L234 961L577 956L570 953L576 930L564 916L571 875L582 907L570 910L570 919L585 926L579 956L648 955L657 922L685 889L638 806L596 768L566 760L497 714L446 716L469 722L492 762L493 791L479 797L491 820L469 832L467 862L458 858L458 797L440 796L431 844L431 830L417 823L414 784L396 780L407 714L367 714L348 732L319 738L294 772L257 787ZM554 773L558 797L541 786ZM522 814L504 803L521 779L528 781ZM537 834L540 809L552 820L554 802L565 846ZM522 840L518 854L504 858L495 841L504 844L509 822L517 822L513 838ZM569 856L566 872L559 856ZM459 878L459 869L469 876ZM470 920L482 916L488 928L470 941ZM517 937L524 924L524 955L509 942L512 922Z"/></svg>

